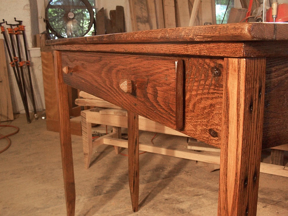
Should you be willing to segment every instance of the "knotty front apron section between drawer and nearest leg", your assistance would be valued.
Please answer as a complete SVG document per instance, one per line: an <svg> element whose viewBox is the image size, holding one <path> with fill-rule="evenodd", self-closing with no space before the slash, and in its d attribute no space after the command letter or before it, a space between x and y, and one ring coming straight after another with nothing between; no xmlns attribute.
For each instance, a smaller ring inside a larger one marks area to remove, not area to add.
<svg viewBox="0 0 288 216"><path fill-rule="evenodd" d="M183 133L220 147L223 59L185 59L185 123Z"/></svg>

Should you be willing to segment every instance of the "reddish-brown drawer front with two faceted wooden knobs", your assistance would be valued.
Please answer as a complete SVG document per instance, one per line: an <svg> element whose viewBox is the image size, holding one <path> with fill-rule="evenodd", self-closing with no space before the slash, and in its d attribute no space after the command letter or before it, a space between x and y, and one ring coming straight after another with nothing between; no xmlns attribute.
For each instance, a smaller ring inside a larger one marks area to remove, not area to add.
<svg viewBox="0 0 288 216"><path fill-rule="evenodd" d="M64 82L173 129L183 127L183 61L62 52Z"/></svg>

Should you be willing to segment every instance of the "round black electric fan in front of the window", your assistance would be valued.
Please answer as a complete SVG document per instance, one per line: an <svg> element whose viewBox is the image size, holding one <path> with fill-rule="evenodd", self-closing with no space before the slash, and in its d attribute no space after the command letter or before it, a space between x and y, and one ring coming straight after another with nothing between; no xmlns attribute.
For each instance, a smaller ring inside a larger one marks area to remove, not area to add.
<svg viewBox="0 0 288 216"><path fill-rule="evenodd" d="M45 21L52 35L58 38L82 37L89 32L95 18L88 0L50 0Z"/></svg>

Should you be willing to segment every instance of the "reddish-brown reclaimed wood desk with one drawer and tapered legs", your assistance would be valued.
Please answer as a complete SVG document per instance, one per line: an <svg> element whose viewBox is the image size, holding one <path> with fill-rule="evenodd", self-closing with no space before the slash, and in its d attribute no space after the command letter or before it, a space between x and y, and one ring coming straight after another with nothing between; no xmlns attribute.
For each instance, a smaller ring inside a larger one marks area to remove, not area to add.
<svg viewBox="0 0 288 216"><path fill-rule="evenodd" d="M75 212L75 185L66 84L128 110L133 211L139 114L220 147L218 215L256 215L261 148L288 143L287 35L287 23L238 23L47 41L67 215Z"/></svg>

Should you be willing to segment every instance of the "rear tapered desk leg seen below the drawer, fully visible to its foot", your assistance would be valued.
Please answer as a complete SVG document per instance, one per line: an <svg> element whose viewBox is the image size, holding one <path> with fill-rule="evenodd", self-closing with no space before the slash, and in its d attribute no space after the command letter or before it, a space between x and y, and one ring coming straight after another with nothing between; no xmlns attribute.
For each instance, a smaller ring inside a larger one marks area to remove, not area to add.
<svg viewBox="0 0 288 216"><path fill-rule="evenodd" d="M128 114L128 174L129 187L134 212L138 211L139 199L139 131L138 115L127 111Z"/></svg>

